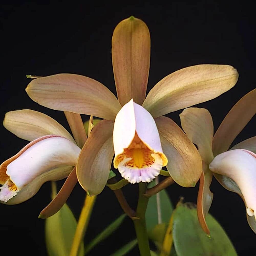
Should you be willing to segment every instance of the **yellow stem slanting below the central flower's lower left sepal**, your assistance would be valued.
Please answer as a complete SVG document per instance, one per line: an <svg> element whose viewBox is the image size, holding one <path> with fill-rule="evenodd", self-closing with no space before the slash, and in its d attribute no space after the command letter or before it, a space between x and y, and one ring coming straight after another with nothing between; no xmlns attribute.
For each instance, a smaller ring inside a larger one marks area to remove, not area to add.
<svg viewBox="0 0 256 256"><path fill-rule="evenodd" d="M84 234L87 230L89 219L92 213L92 208L97 196L86 196L84 201L84 206L81 210L81 214L77 223L76 233L74 235L70 256L77 256L79 252L79 247L83 241Z"/></svg>

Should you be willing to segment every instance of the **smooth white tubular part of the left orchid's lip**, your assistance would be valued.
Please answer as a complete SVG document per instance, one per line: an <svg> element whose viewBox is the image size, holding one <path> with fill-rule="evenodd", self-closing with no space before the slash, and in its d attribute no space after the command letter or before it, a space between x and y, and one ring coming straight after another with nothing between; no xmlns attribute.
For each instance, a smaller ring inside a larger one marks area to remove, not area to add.
<svg viewBox="0 0 256 256"><path fill-rule="evenodd" d="M81 150L77 145L64 137L45 137L7 165L6 174L19 190L42 173L60 166L75 166L77 163Z"/></svg>

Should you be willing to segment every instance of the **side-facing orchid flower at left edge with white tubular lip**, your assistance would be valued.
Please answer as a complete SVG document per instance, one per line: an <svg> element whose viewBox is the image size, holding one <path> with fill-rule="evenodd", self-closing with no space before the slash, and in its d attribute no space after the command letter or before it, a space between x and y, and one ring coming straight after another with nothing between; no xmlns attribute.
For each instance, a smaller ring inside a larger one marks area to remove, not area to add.
<svg viewBox="0 0 256 256"><path fill-rule="evenodd" d="M68 197L76 184L73 176L81 151L69 132L51 117L28 109L6 113L3 124L31 142L0 165L0 200L19 204L34 196L46 181L70 175L64 196Z"/></svg>

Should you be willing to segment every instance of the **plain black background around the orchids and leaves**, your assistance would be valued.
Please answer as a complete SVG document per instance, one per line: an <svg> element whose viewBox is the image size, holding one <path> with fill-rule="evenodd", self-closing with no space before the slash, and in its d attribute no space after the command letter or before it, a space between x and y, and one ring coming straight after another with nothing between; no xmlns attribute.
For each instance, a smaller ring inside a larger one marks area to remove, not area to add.
<svg viewBox="0 0 256 256"><path fill-rule="evenodd" d="M135 16L144 20L151 33L150 90L167 74L183 67L201 64L229 64L239 72L234 88L217 99L198 104L213 117L215 131L235 102L255 88L255 18L246 1L232 4L199 1L197 3L127 3L104 4L49 1L41 3L3 4L1 10L1 111L0 120L10 110L34 109L55 118L68 128L63 112L44 108L29 99L25 88L26 74L47 76L75 73L92 77L115 93L111 37L114 27L124 18ZM168 116L178 124L176 111ZM86 120L87 116L83 116ZM239 117L238 117L239 118ZM17 153L27 142L1 129L1 158L4 161ZM238 135L235 143L255 136L255 119ZM60 187L63 181L58 183ZM196 202L196 188L172 185L167 188L175 205L179 196ZM254 255L255 234L246 221L240 197L222 188L216 180L211 185L214 200L210 213L228 233L239 255ZM137 186L124 189L134 207ZM77 185L68 199L76 218L79 217L85 193ZM44 220L39 212L50 201L50 183L37 195L15 206L0 205L1 252L23 252L46 255ZM85 240L89 241L122 210L108 188L98 196ZM186 230L184 230L186 232ZM109 255L135 238L132 222L127 218L113 236L94 249L90 255ZM138 255L137 249L131 255Z"/></svg>

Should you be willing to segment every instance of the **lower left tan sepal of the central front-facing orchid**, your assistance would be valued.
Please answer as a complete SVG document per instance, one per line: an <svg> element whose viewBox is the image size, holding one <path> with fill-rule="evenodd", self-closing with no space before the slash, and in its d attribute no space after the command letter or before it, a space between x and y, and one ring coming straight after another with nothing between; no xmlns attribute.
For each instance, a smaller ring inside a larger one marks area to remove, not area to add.
<svg viewBox="0 0 256 256"><path fill-rule="evenodd" d="M78 182L90 196L104 189L114 156L114 122L100 121L91 131L77 162Z"/></svg>

